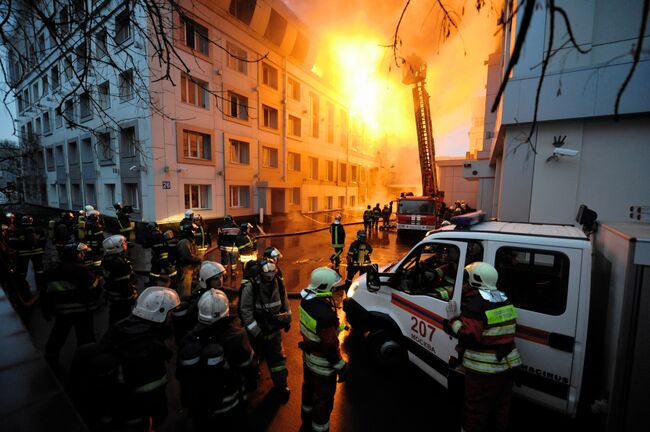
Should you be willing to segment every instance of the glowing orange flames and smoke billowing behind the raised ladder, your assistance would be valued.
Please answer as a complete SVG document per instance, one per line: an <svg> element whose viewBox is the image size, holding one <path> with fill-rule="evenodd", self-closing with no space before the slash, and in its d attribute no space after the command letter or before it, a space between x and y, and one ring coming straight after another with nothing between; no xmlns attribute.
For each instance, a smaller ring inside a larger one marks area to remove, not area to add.
<svg viewBox="0 0 650 432"><path fill-rule="evenodd" d="M393 43L405 1L284 1L320 39L314 72L349 97L352 123L358 116L366 124L378 143L376 150L382 148L400 173L399 183L421 183L419 169L414 169L418 162L411 86L402 83L401 57L414 54L427 63L436 155L465 155L472 107L485 95L485 62L497 44L501 1L480 13L475 2L443 1L456 25L445 27L437 1L412 0L400 26L397 61L387 46Z"/></svg>

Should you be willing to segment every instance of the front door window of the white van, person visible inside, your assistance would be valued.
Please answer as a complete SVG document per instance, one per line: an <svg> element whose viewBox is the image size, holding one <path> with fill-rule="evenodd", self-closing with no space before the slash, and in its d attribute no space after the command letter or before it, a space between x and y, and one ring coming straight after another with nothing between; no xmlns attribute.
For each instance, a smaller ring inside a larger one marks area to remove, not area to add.
<svg viewBox="0 0 650 432"><path fill-rule="evenodd" d="M454 295L459 257L457 246L423 244L398 269L404 275L399 289L412 295L429 295L448 302Z"/></svg>

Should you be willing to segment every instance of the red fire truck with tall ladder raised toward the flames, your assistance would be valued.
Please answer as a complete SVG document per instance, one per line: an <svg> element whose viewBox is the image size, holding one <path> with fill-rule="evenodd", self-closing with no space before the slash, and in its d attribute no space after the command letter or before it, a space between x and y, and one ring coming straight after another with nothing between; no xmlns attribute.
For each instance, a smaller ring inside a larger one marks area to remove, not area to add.
<svg viewBox="0 0 650 432"><path fill-rule="evenodd" d="M415 126L418 134L418 153L422 171L422 196L402 193L397 200L397 231L430 231L438 227L438 213L443 194L438 190L436 151L431 127L429 94L425 86L427 65L417 56L411 56L403 69L402 82L413 85Z"/></svg>

